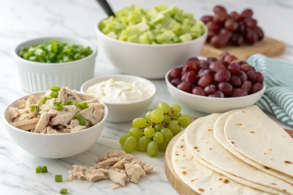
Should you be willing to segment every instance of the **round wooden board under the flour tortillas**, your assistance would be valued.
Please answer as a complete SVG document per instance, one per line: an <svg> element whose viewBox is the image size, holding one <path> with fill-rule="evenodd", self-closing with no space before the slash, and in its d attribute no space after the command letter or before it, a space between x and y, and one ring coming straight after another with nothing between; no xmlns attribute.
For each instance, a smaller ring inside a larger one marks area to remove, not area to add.
<svg viewBox="0 0 293 195"><path fill-rule="evenodd" d="M192 118L192 120L196 120L197 118ZM166 152L165 152L165 173L169 183L173 186L173 188L180 195L200 195L191 189L188 185L186 185L176 174L173 164L172 164L172 150L173 146L178 140L178 138L184 133L185 130L178 133L171 141L169 142ZM293 138L293 130L285 129L285 131Z"/></svg>

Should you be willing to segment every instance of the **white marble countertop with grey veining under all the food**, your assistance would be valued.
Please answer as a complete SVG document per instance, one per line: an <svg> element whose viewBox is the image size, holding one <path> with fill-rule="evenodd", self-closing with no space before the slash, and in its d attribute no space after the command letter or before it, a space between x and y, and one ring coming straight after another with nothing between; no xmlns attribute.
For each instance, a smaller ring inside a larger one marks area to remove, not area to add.
<svg viewBox="0 0 293 195"><path fill-rule="evenodd" d="M109 0L112 7L117 10L123 8L133 1ZM137 0L136 4L150 8L158 4L156 0ZM184 8L187 12L195 14L195 18L212 12L215 4L224 4L229 11L241 11L245 7L252 7L255 17L266 35L279 39L286 43L287 51L278 59L293 62L293 37L290 29L293 17L293 3L289 0L161 0L167 5L175 5ZM13 63L11 51L13 47L25 39L62 35L77 36L93 42L96 35L93 27L98 20L106 17L105 13L94 0L2 0L0 7L0 113L12 100L25 95L21 91L16 66ZM119 74L105 58L103 51L98 51L95 77L102 75ZM159 89L150 107L154 109L160 101L167 103L178 103L173 99L166 89L164 80L154 80ZM204 116L185 106L182 113L191 116ZM274 119L274 117L272 117ZM280 124L286 127L283 124ZM92 166L100 156L105 156L106 151L120 150L119 137L127 132L131 123L107 122L102 135L88 151L77 156L64 159L45 159L26 153L11 140L2 119L0 119L0 194L59 194L61 188L67 188L68 194L178 194L168 180L164 171L164 154L160 153L155 158L150 158L146 153L134 152L136 158L154 164L154 171L147 177L143 177L136 185L127 184L113 190L111 181L88 182L73 180L72 182L55 183L54 175L62 174L65 180L67 171L71 165L80 164L87 167ZM35 174L35 167L46 165L48 173Z"/></svg>

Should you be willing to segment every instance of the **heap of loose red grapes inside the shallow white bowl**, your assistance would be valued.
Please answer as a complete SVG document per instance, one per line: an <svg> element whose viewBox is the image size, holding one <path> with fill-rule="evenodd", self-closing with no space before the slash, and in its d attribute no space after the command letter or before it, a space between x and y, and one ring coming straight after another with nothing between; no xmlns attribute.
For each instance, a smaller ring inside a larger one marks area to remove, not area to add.
<svg viewBox="0 0 293 195"><path fill-rule="evenodd" d="M200 96L241 97L263 88L263 75L227 52L219 60L190 58L182 68L174 68L170 77L173 86Z"/></svg>

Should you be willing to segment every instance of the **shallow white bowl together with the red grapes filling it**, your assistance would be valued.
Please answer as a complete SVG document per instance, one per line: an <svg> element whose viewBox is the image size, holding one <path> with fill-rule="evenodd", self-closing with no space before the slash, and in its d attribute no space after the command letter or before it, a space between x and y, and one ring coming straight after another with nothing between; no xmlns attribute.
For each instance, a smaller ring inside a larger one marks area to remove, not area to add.
<svg viewBox="0 0 293 195"><path fill-rule="evenodd" d="M204 113L222 113L255 104L265 92L263 75L227 52L220 59L190 58L166 74L169 93Z"/></svg>

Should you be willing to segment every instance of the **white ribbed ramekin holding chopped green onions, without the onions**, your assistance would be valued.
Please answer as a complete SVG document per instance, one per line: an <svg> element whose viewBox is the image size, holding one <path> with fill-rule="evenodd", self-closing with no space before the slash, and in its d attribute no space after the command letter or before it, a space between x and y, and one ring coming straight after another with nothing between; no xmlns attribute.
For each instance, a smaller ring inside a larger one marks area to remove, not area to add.
<svg viewBox="0 0 293 195"><path fill-rule="evenodd" d="M80 60L64 63L33 62L18 56L18 51L21 47L28 48L52 39L90 47L93 52L91 55ZM50 85L53 85L60 87L68 86L70 89L79 90L81 84L93 78L97 53L95 44L79 38L40 37L24 41L13 50L13 56L18 66L21 89L32 93L47 90Z"/></svg>

